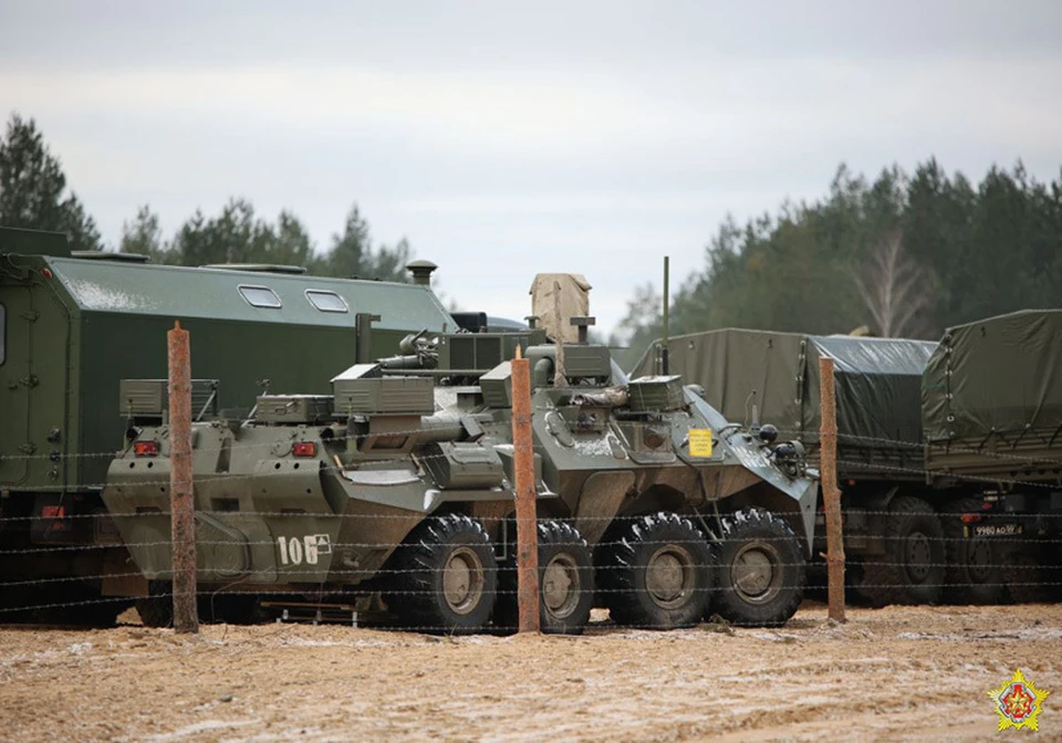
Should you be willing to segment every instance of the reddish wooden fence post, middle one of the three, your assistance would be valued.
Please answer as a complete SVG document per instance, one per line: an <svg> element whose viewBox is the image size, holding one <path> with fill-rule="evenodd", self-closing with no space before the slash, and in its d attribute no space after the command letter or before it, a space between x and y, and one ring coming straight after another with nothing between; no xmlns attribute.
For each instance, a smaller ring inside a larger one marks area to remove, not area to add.
<svg viewBox="0 0 1062 743"><path fill-rule="evenodd" d="M531 363L517 346L512 359L513 489L517 499L517 607L521 632L538 632L539 534L531 435Z"/></svg>

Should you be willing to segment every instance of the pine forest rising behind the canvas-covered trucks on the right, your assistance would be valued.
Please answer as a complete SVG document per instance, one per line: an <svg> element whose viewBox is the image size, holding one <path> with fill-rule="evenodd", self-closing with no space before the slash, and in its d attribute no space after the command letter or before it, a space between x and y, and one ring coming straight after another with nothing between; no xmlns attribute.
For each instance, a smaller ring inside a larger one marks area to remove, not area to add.
<svg viewBox="0 0 1062 743"><path fill-rule="evenodd" d="M1062 300L1062 171L1019 161L979 184L934 158L873 180L841 165L823 198L728 218L680 282L671 335L722 327L939 338L944 328ZM612 342L637 358L663 331L639 286Z"/></svg>

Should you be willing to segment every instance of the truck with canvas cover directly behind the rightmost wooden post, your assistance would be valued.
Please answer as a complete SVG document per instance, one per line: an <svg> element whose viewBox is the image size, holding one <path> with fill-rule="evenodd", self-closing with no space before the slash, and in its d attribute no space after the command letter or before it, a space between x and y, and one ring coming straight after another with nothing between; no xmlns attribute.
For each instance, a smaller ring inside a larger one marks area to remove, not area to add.
<svg viewBox="0 0 1062 743"><path fill-rule="evenodd" d="M941 495L925 482L922 374L935 343L721 329L676 336L670 370L731 420L753 410L818 461L819 359L834 359L848 578L873 603L933 603L946 583ZM659 343L635 374L654 369ZM824 517L820 515L820 523ZM822 552L822 550L816 550Z"/></svg>

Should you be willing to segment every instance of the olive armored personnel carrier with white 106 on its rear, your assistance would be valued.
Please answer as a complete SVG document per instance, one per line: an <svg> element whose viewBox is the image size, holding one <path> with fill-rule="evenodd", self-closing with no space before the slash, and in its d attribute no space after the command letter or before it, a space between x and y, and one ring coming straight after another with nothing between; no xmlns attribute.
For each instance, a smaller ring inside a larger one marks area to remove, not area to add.
<svg viewBox="0 0 1062 743"><path fill-rule="evenodd" d="M333 395L263 395L249 420L194 425L198 582L217 618L247 617L256 595L311 601L382 595L405 627L487 626L507 559L511 452L479 421L437 411L427 377L361 364ZM128 380L128 446L103 500L143 576L137 608L170 621L169 429L164 383ZM548 631L590 614L591 556L570 526L544 521ZM146 594L146 596L144 595ZM560 596L558 596L560 594Z"/></svg>

